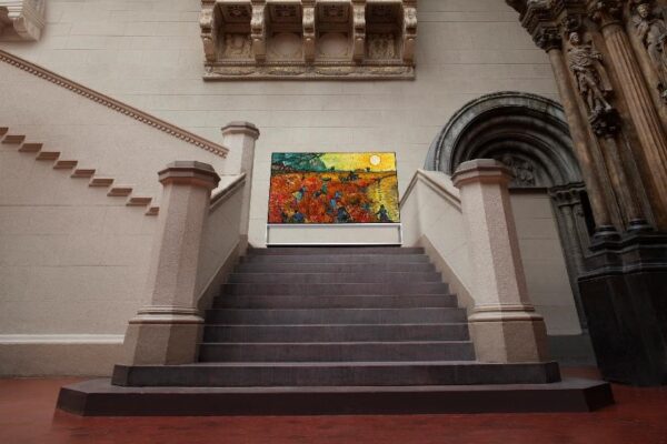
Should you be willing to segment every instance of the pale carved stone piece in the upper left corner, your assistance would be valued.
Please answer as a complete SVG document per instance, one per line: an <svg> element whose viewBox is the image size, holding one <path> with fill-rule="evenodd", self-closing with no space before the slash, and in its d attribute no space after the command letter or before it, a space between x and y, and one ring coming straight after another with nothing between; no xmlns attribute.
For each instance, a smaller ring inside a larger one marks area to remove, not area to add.
<svg viewBox="0 0 667 444"><path fill-rule="evenodd" d="M39 40L46 0L0 0L0 40Z"/></svg>

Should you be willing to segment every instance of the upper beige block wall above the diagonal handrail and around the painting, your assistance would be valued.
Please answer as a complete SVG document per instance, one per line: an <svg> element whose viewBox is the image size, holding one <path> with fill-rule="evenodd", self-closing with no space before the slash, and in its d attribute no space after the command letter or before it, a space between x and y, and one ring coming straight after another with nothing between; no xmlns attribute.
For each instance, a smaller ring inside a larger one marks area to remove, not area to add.
<svg viewBox="0 0 667 444"><path fill-rule="evenodd" d="M556 98L548 60L502 0L420 0L416 81L201 80L199 0L49 0L37 43L0 48L220 141L247 120L256 153L250 242L265 240L273 151L396 151L401 192L438 129L480 94Z"/></svg>

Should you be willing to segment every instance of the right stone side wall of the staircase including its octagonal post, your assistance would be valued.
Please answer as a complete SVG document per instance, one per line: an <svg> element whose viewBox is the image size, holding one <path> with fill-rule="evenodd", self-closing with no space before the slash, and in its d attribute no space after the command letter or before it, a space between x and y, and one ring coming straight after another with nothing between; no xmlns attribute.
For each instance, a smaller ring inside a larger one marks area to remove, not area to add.
<svg viewBox="0 0 667 444"><path fill-rule="evenodd" d="M418 171L401 201L401 219L406 241L425 246L455 291L468 293L461 301L478 361L545 362L546 326L527 291L511 179L490 159L461 163L451 179Z"/></svg>

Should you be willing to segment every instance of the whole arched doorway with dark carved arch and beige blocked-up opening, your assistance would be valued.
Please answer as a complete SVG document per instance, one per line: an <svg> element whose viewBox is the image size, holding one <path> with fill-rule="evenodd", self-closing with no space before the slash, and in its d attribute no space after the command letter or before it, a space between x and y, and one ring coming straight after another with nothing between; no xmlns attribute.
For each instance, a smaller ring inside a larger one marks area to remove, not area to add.
<svg viewBox="0 0 667 444"><path fill-rule="evenodd" d="M594 224L571 147L558 103L499 92L457 112L431 144L425 165L452 174L461 162L496 159L512 170L510 194L529 291L556 334L564 334L558 325L571 331L573 316L586 331L577 276Z"/></svg>

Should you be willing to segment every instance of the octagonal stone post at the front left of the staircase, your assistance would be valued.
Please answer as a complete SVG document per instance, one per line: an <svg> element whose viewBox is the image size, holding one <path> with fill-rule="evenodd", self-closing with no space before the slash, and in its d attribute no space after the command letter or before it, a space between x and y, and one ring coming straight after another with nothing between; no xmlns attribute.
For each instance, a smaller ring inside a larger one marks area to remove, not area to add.
<svg viewBox="0 0 667 444"><path fill-rule="evenodd" d="M148 273L148 305L130 320L125 364L196 361L203 320L197 311L197 266L211 190L220 178L209 164L172 162L159 172L163 186Z"/></svg>

